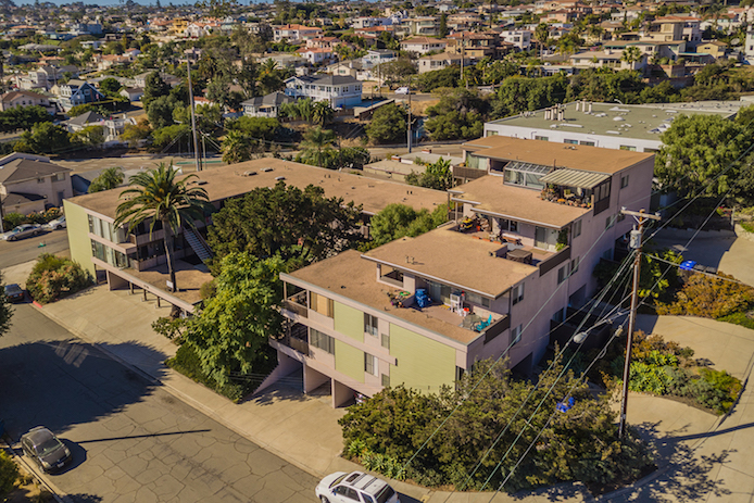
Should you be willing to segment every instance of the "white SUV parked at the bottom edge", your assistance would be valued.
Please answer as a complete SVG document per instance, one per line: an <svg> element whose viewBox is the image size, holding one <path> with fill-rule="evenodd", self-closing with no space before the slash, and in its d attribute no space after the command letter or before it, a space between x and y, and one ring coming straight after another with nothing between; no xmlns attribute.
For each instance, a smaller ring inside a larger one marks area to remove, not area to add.
<svg viewBox="0 0 754 503"><path fill-rule="evenodd" d="M388 482L363 471L336 471L314 490L322 503L401 503Z"/></svg>

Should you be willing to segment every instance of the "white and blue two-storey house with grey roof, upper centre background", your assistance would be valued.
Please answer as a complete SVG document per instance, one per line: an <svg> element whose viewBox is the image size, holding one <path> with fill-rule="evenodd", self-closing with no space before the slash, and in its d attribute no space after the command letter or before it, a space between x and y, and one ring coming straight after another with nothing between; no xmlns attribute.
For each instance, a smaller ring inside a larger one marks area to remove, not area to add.
<svg viewBox="0 0 754 503"><path fill-rule="evenodd" d="M286 80L286 95L327 101L334 109L353 106L362 101L362 84L351 76L296 76Z"/></svg>

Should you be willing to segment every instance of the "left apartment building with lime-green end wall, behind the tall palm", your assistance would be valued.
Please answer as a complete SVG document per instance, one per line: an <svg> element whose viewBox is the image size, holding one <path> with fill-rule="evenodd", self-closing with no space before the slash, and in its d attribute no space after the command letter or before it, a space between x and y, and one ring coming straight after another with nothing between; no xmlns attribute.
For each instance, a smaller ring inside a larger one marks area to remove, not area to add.
<svg viewBox="0 0 754 503"><path fill-rule="evenodd" d="M13 154L27 155L27 154ZM420 187L407 188L389 180L337 173L306 164L278 159L257 159L240 164L214 167L199 173L196 183L203 187L215 208L253 189L273 187L278 181L301 189L315 185L325 197L343 198L362 204L364 221L390 203L400 202L415 210L435 210L448 202L448 194ZM203 240L203 229L211 217L196 222L199 231L183 228L175 237L176 276L179 291L168 291L163 230L159 223L150 234L150 223L128 231L127 225L115 227L116 209L122 188L66 199L64 209L68 244L73 260L92 275L104 274L111 289L130 289L144 297L154 295L191 313L200 299L199 288L212 276L203 261L212 251Z"/></svg>

